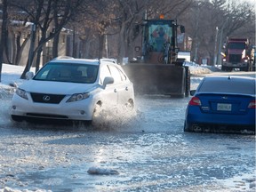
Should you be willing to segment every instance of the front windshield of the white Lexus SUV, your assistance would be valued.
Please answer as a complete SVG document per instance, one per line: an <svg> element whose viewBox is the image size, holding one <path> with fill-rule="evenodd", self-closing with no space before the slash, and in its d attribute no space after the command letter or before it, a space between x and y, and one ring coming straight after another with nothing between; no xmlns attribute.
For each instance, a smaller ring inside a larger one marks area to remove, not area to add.
<svg viewBox="0 0 256 192"><path fill-rule="evenodd" d="M48 63L38 71L34 80L93 84L99 66L77 63Z"/></svg>

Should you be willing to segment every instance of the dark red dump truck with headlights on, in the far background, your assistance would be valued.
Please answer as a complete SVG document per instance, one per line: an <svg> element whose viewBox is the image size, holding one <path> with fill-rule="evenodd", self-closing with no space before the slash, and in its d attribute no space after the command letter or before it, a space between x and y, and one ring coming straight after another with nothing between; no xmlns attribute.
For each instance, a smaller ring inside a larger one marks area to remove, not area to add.
<svg viewBox="0 0 256 192"><path fill-rule="evenodd" d="M247 38L229 38L224 48L221 70L231 71L234 68L239 68L241 71L252 70L251 50Z"/></svg>

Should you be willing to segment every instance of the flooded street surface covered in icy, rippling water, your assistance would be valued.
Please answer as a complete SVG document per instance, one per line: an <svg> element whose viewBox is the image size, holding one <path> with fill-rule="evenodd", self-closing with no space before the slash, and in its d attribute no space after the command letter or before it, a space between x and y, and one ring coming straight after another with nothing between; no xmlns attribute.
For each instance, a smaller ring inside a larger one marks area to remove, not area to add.
<svg viewBox="0 0 256 192"><path fill-rule="evenodd" d="M13 124L10 100L0 111L0 188L255 191L255 135L183 132L189 98L138 96L135 115L113 112L96 129Z"/></svg>

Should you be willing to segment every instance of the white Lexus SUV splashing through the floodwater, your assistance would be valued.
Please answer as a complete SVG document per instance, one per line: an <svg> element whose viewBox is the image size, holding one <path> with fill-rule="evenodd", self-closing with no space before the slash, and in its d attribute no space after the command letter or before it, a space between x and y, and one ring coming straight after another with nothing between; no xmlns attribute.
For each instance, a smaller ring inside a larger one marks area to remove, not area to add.
<svg viewBox="0 0 256 192"><path fill-rule="evenodd" d="M56 59L27 73L12 98L14 121L92 122L96 108L133 108L133 84L114 60Z"/></svg>

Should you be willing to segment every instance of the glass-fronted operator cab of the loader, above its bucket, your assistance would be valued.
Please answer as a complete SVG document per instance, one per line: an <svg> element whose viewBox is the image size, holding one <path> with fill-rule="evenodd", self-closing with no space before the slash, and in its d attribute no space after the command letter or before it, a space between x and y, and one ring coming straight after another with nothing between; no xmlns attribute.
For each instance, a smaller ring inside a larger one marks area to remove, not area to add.
<svg viewBox="0 0 256 192"><path fill-rule="evenodd" d="M176 20L145 20L142 38L144 62L172 63L172 56L179 51L177 28ZM180 28L180 32L184 30L184 27Z"/></svg>

